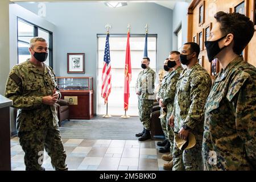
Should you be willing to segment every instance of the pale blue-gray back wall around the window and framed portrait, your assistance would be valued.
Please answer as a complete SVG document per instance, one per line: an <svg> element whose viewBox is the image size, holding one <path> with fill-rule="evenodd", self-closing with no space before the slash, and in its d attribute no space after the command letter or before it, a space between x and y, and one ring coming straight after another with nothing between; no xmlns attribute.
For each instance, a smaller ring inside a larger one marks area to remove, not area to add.
<svg viewBox="0 0 256 182"><path fill-rule="evenodd" d="M19 3L38 13L38 3ZM158 34L158 67L172 50L172 10L155 3L128 3L128 6L111 9L103 3L46 3L46 19L55 24L57 76L92 76L94 85L94 112L97 90L97 34L104 34L110 23L110 34L126 34L131 24L131 34L143 34L148 23L149 34ZM85 53L85 74L67 73L67 53ZM141 61L141 60L138 60Z"/></svg>

